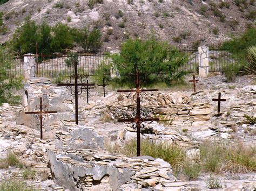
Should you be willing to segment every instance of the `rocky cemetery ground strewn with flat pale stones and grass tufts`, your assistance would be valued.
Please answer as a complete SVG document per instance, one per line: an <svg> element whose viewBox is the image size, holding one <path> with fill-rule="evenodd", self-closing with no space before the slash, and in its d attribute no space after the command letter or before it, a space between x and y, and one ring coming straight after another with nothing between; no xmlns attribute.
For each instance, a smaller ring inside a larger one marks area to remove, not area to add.
<svg viewBox="0 0 256 191"><path fill-rule="evenodd" d="M0 107L0 189L10 190L228 190L256 189L256 78L225 82L213 74L192 75L184 84L140 94L143 123L141 157L136 157L136 129L117 119L134 117L134 93L106 87L75 97L48 79L26 82L23 104ZM90 82L90 80L89 80ZM220 104L218 98L226 101ZM49 114L39 121L24 111L39 98ZM247 117L245 117L247 116ZM169 162L169 163L167 163Z"/></svg>

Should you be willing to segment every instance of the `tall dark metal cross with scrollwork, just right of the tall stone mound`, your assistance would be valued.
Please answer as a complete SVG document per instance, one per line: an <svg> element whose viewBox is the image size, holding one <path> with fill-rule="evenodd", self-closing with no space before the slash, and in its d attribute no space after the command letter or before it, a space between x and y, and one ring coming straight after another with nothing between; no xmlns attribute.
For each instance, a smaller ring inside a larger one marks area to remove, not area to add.
<svg viewBox="0 0 256 191"><path fill-rule="evenodd" d="M66 81L66 83L59 83L57 86L66 86L67 89L70 89L70 93L72 95L75 95L75 110L76 110L76 124L78 125L78 95L82 94L82 89L86 89L86 87L89 86L95 86L95 83L85 83L84 80L82 80L83 76L78 75L77 72L77 61L74 62L75 67L75 74L70 76L70 80ZM78 83L78 78L80 79L80 83ZM75 79L75 83L71 83L72 79ZM72 86L75 86L75 91L72 91ZM80 86L80 91L78 91L78 86ZM88 97L87 97L88 100Z"/></svg>

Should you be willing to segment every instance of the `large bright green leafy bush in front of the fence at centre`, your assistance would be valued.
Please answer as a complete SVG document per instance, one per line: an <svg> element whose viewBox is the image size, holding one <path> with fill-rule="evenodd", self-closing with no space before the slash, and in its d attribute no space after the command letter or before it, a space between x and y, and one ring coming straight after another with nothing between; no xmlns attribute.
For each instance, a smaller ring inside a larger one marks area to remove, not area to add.
<svg viewBox="0 0 256 191"><path fill-rule="evenodd" d="M185 72L178 68L188 61L188 55L166 42L153 37L147 40L128 39L121 47L120 54L111 55L113 69L121 83L134 82L134 66L138 67L140 81L149 85L158 81L170 84L180 80Z"/></svg>

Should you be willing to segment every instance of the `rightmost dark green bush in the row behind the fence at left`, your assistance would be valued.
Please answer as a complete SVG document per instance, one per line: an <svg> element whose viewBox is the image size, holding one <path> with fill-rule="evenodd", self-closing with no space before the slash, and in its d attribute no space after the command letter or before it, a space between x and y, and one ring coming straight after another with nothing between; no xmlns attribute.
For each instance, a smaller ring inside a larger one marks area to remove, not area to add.
<svg viewBox="0 0 256 191"><path fill-rule="evenodd" d="M102 47L102 34L98 29L91 32L86 27L76 31L76 42L85 52L97 52Z"/></svg>

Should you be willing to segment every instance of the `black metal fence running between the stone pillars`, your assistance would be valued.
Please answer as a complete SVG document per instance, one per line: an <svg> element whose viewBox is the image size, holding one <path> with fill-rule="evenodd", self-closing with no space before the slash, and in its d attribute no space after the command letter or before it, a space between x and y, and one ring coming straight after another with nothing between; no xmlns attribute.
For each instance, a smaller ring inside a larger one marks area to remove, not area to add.
<svg viewBox="0 0 256 191"><path fill-rule="evenodd" d="M189 47L179 47L179 51L188 54L189 61L177 69L177 72L198 73L199 54L198 49ZM95 75L100 65L110 63L109 51L100 51L96 54L77 53L71 55L38 55L36 58L36 76L38 77L57 77L69 76L73 68L71 62L77 60L78 73L85 76ZM24 76L24 58L5 58L9 62L9 77ZM218 49L211 46L209 48L209 72L223 72L225 65L238 65L238 59L234 54L225 49Z"/></svg>

